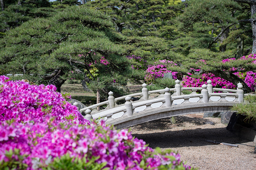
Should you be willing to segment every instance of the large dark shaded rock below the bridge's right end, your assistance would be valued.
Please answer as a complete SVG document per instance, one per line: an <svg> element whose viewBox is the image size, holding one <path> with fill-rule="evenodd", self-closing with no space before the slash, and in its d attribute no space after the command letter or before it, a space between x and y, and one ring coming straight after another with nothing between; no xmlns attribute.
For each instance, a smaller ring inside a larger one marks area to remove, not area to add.
<svg viewBox="0 0 256 170"><path fill-rule="evenodd" d="M256 122L246 120L245 115L233 113L226 129L240 138L256 143Z"/></svg>

